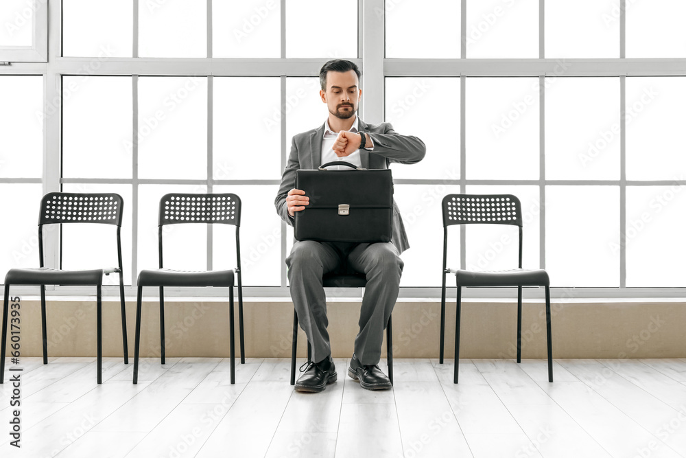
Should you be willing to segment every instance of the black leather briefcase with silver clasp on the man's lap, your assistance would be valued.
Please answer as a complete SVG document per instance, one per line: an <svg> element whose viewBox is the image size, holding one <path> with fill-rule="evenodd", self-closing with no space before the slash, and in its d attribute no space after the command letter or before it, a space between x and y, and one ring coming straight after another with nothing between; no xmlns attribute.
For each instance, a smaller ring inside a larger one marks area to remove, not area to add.
<svg viewBox="0 0 686 458"><path fill-rule="evenodd" d="M327 170L346 165L355 170ZM393 232L393 178L390 169L367 170L349 162L297 170L296 189L309 205L295 212L295 238L320 242L390 242Z"/></svg>

